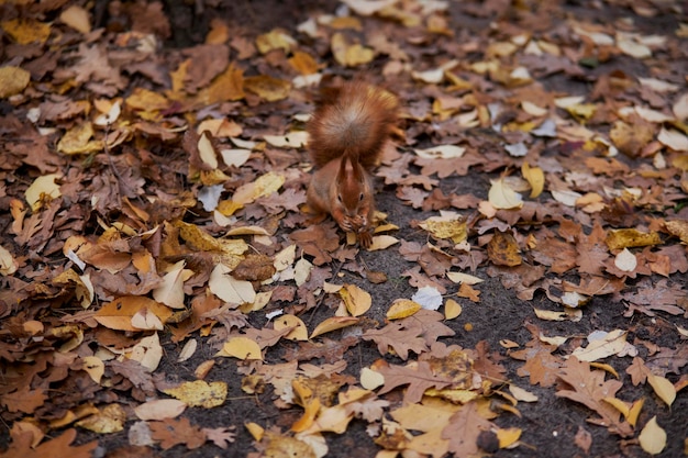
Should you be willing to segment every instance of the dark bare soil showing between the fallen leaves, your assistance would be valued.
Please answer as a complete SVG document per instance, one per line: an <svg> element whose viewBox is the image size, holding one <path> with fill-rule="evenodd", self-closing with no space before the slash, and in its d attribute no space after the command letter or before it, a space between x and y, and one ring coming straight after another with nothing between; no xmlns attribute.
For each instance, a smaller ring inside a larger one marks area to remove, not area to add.
<svg viewBox="0 0 688 458"><path fill-rule="evenodd" d="M108 14L103 12L104 3L107 2L97 1L96 3L98 4L96 11L99 11L101 14L100 20L103 23L107 22ZM196 10L200 3L203 5L202 11ZM476 16L473 14L473 11L479 4L488 8L492 3L497 4L500 2L450 2L451 27L457 31L456 36L462 36L462 33L468 35L486 33L489 24L497 18L490 14ZM529 1L514 3L523 3L523 8L537 8L540 4L540 2ZM562 1L558 3L561 8L557 10L557 13L551 18L548 26L552 30L556 30L561 21L566 18L579 18L597 23L613 22L619 18L631 18L635 21L640 31L653 34L665 33L667 29L674 30L679 22L688 20L688 7L686 4L681 7L683 16L674 12L665 12L652 18L645 18L637 15L635 11L629 8L632 3L632 1ZM171 49L201 43L208 33L209 24L213 18L225 19L230 24L242 31L251 31L249 35L253 36L275 27L282 27L288 32L293 32L297 24L312 16L315 12L334 12L337 8L337 2L215 0L197 1L195 5L191 2L167 1L165 8L173 24L173 34L165 42L164 46ZM668 10L664 7L661 8L661 11ZM496 11L501 10L496 8ZM685 40L684 43L686 43ZM375 65L371 65L371 71L377 70ZM622 71L633 77L652 75L652 68L648 67L648 64L624 56L615 56L608 62L600 62L590 68L581 67L581 69L584 71L577 78L570 77L565 72L555 72L539 78L539 81L548 91L558 91L566 94L586 94L592 89L598 76L610 74L613 70ZM688 71L688 63L684 63L684 74L686 71ZM355 71L346 70L345 74L347 77L351 77L355 75ZM271 115L280 116L281 113L275 112ZM482 133L468 131L465 135L476 136L477 138ZM429 145L420 144L417 146ZM641 164L625 157L622 160L632 167ZM453 192L456 194L474 194L480 199L487 199L489 180L498 176L499 170L495 172L467 174L462 177L453 175L442 179L440 188L445 194ZM415 242L421 245L429 242L426 233L418 230L414 222L436 215L436 212L422 211L402 204L396 197L396 187L385 186L381 177L376 178L376 185L379 190L377 194L379 210L388 214L388 221L400 227L395 235L400 239ZM462 213L470 216L474 211L465 210ZM684 209L679 215L686 217L688 214ZM289 232L288 230L280 231L282 236L286 236ZM280 236L280 232L277 233L277 236ZM333 265L336 262L333 261ZM386 321L385 314L393 300L410 298L417 291L417 288L412 287L408 278L403 276L403 272L413 268L415 262L406 260L397 249L386 249L375 253L362 250L359 264L365 265L370 270L385 272L388 281L373 284L360 275L356 275L352 269L346 268L341 269L341 278L337 280L340 282L358 284L371 292L373 306L366 313L366 316L373 321L384 323ZM479 267L474 271L467 270L469 273L485 279L485 282L477 287L480 291L479 302L458 299L463 306L462 314L457 319L444 322L455 332L455 335L442 337L440 340L446 345L456 344L464 348L475 348L478 343L487 342L490 351L495 353L493 358L498 358L497 355L501 356L499 364L506 368L504 377L515 384L526 387L539 400L533 403L519 403L520 416L502 413L493 420L501 428L521 428L523 431L520 438L521 445L513 449L499 449L492 454L486 454L486 456L498 458L646 457L647 454L641 449L635 439L622 440L618 436L609 434L607 428L587 423L586 418L590 416L590 410L579 403L556 396L553 388L531 384L528 377L519 376L517 371L523 366L523 362L509 357L509 350L500 343L511 340L524 345L532 338L526 325L536 324L537 328L545 335L566 335L579 338L585 338L585 336L596 329L628 329L628 342L639 338L652 340L661 347L679 349L688 345L685 339L680 339L676 333L662 333L658 329L672 327L673 324L688 327L686 316L669 317L662 313L657 313L656 316L637 313L628 316L626 304L622 301L610 300L609 295L603 295L593 297L585 305L582 317L578 322L543 321L534 315L533 309L557 311L561 310L561 305L552 302L542 291L535 292L533 300L520 300L517 298L514 290L502 286L499 276L490 276L487 270L486 267ZM575 273L567 273L566 279L576 281L578 277ZM674 276L672 280L684 289L688 288L688 280L685 275ZM633 280L630 280L629 284L633 284ZM450 287L446 297L455 294L457 289L457 286ZM332 316L333 309L336 305L335 301L324 301L314 311L307 311L302 319L304 321L310 320L312 323L321 322ZM248 320L251 325L256 328L262 328L268 323L264 314L251 314ZM346 334L336 332L335 335L337 336L335 338L342 338ZM217 345L213 345L207 338L201 338L199 349L191 359L185 362L176 362L181 346L173 343L169 334L162 333L160 338L165 354L157 372L164 375L165 381L169 383L193 380L193 369L200 362L212 359L217 351ZM288 355L288 351L295 347L296 344L282 340L282 343L267 353L266 359L268 361L282 362L285 355ZM639 356L642 358L647 357L646 354L643 354L643 350L641 350ZM359 340L355 347L349 348L344 354L344 358L347 362L345 375L358 378L362 368L373 365L380 358L380 354L374 342ZM266 390L263 393L255 395L246 394L241 389L241 376L237 373L237 366L234 360L231 358L215 359L217 364L213 368L212 377L214 380L228 382L229 395L226 402L219 407L210 410L188 409L185 412L185 416L192 424L201 427L235 425L235 440L230 444L228 450L221 450L210 443L197 449L186 449L184 447L174 447L169 450L136 448L129 446L126 431L107 435L80 431L77 443L86 444L90 440L98 440L98 451L95 456L110 458L134 456L179 458L240 457L248 456L256 450L254 438L243 426L247 418L264 425L264 427L278 426L281 429L288 429L302 415L303 410L301 407L277 409L273 402L275 396L269 384L266 386ZM399 359L391 355L386 355L384 359L399 364ZM631 364L631 359L626 357L612 358L610 360L610 365L615 369L623 382L623 396L625 399L644 396L656 400L656 395L650 386L634 387L630 383L630 376L625 370ZM323 362L323 359L315 359L313 362ZM687 368L688 366L684 366L681 373L686 373ZM673 379L673 381L676 380ZM122 398L122 394L120 394L120 398ZM397 404L402 401L401 394L397 392L388 395L387 399ZM684 389L678 392L670 409L662 406L658 402L646 402L639 424L644 424L655 415L668 436L666 448L657 456L663 458L686 456L688 390ZM9 428L9 425L7 426ZM328 457L374 457L380 450L380 447L373 442L366 432L366 422L355 418L344 434L325 433L329 446ZM589 432L592 437L588 453L576 445L576 435L579 434L581 427ZM1 428L0 450L9 443L8 428ZM0 453L0 456L3 455Z"/></svg>

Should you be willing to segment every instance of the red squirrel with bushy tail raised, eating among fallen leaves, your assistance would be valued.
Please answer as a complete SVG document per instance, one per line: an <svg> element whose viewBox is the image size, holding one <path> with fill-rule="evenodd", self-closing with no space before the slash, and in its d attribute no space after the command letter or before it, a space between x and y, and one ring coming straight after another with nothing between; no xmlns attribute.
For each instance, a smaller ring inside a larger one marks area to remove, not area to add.
<svg viewBox="0 0 688 458"><path fill-rule="evenodd" d="M309 152L317 167L308 204L331 214L345 232L371 244L375 213L371 170L397 122L397 99L364 82L347 82L324 93L308 123Z"/></svg>

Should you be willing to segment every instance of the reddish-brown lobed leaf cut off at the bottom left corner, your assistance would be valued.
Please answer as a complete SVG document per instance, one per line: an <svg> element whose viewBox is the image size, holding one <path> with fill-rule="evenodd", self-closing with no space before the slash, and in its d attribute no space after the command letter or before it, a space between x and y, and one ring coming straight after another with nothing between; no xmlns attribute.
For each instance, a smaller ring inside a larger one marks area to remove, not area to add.
<svg viewBox="0 0 688 458"><path fill-rule="evenodd" d="M0 454L2 458L91 458L91 454L98 447L98 440L76 447L69 446L77 437L76 429L67 429L60 436L41 444L33 448L33 433L20 432L12 435L13 442L10 448Z"/></svg>

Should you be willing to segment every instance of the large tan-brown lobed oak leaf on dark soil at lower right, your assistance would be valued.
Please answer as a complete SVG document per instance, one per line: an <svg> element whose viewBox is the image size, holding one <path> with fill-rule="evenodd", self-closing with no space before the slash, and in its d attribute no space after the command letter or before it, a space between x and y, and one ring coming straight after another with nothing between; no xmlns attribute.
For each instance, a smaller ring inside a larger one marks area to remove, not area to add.
<svg viewBox="0 0 688 458"><path fill-rule="evenodd" d="M632 436L631 425L628 422L621 422L621 413L603 401L606 398L614 398L623 383L619 380L604 380L604 375L603 370L590 370L588 362L570 357L558 373L558 378L570 389L562 388L556 395L579 402L600 416L588 418L589 422L607 426L611 433L623 437Z"/></svg>

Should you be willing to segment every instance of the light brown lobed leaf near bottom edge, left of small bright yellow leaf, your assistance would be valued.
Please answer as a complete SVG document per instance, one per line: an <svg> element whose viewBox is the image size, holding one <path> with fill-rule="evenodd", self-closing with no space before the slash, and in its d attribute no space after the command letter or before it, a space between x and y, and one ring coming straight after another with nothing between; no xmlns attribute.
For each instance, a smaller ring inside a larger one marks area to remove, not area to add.
<svg viewBox="0 0 688 458"><path fill-rule="evenodd" d="M492 423L478 413L478 404L471 401L450 418L450 424L442 429L442 438L450 442L450 451L459 457L469 457L478 453L478 436L490 431Z"/></svg>

